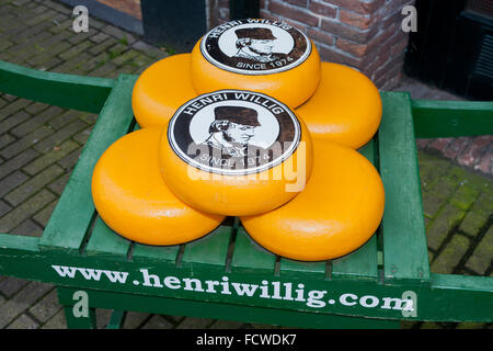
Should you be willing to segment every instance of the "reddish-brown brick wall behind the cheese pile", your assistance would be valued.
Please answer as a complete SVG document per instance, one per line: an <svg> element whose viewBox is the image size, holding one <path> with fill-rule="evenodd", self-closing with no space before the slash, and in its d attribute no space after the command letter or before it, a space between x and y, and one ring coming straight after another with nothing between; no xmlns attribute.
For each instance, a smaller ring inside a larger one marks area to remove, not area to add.
<svg viewBox="0 0 493 351"><path fill-rule="evenodd" d="M210 0L215 25L229 21L229 1ZM261 0L261 18L284 21L307 34L324 61L357 68L379 89L402 77L408 33L401 10L414 0Z"/></svg>

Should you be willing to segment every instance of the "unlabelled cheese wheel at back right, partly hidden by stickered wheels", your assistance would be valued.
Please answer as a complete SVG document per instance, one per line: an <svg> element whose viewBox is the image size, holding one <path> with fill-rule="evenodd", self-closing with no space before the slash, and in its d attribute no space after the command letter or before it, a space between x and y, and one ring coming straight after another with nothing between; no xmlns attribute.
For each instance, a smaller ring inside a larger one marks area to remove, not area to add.
<svg viewBox="0 0 493 351"><path fill-rule="evenodd" d="M296 113L313 138L357 149L380 125L382 107L377 87L365 75L339 64L322 63L314 94Z"/></svg>

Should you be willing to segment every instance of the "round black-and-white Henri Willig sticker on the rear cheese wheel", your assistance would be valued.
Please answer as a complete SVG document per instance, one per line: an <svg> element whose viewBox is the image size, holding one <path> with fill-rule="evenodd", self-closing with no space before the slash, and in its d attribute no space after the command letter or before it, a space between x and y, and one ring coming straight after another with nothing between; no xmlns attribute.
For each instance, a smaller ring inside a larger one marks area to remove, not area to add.
<svg viewBox="0 0 493 351"><path fill-rule="evenodd" d="M242 75L267 75L303 63L311 42L297 29L266 19L221 24L200 42L200 52L213 65Z"/></svg>

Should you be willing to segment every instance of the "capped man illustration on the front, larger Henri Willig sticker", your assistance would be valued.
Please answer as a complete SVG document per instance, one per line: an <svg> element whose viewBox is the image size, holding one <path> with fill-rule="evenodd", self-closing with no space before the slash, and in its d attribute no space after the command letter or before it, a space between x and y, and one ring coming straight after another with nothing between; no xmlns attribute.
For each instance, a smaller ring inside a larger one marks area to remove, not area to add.
<svg viewBox="0 0 493 351"><path fill-rule="evenodd" d="M244 106L218 106L214 114L210 135L203 145L220 149L226 156L246 156L249 140L255 135L255 127L261 126L257 112Z"/></svg>

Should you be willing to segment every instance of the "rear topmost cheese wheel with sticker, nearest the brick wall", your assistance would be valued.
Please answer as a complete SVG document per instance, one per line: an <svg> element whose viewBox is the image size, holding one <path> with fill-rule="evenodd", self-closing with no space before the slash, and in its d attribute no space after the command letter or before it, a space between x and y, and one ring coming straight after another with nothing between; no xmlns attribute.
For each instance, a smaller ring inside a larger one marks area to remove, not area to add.
<svg viewBox="0 0 493 351"><path fill-rule="evenodd" d="M294 109L316 91L320 56L305 34L286 23L238 20L213 29L197 42L191 72L197 93L252 90Z"/></svg>

